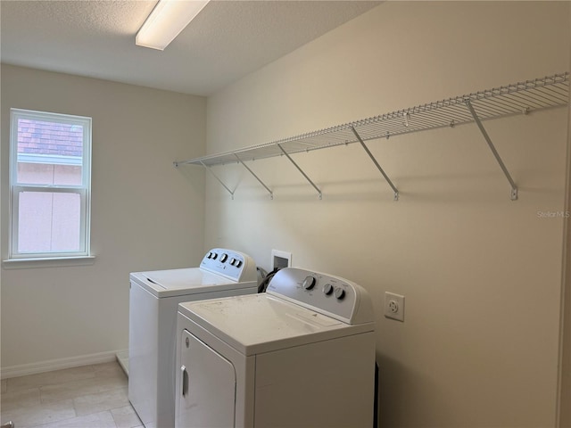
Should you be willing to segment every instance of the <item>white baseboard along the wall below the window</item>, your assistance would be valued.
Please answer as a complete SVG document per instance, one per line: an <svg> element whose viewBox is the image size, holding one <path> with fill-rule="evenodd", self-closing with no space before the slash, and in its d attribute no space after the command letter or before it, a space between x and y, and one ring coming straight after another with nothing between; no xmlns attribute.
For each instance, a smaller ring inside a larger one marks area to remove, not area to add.
<svg viewBox="0 0 571 428"><path fill-rule="evenodd" d="M99 352L97 354L81 355L79 357L50 359L48 361L22 364L20 366L1 367L0 378L4 380L11 377L26 376L28 374L53 372L54 370L62 370L62 368L109 363L117 359L117 354L122 352L125 352L125 350L112 350L109 352Z"/></svg>

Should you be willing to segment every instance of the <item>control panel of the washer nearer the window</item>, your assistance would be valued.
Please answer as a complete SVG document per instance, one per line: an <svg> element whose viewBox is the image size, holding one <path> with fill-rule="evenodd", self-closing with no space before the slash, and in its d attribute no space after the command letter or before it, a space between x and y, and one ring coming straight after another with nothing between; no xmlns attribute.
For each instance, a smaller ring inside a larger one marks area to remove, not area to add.
<svg viewBox="0 0 571 428"><path fill-rule="evenodd" d="M239 251L213 248L204 255L200 267L215 274L228 276L235 281L256 279L256 265L253 259ZM252 276L253 279L244 276Z"/></svg>

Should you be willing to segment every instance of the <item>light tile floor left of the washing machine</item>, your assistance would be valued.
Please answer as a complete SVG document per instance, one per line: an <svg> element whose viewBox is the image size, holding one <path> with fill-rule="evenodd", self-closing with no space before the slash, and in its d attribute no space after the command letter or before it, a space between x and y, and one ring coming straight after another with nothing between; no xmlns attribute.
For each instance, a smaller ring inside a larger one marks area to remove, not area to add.
<svg viewBox="0 0 571 428"><path fill-rule="evenodd" d="M2 381L1 424L15 428L143 428L116 362Z"/></svg>

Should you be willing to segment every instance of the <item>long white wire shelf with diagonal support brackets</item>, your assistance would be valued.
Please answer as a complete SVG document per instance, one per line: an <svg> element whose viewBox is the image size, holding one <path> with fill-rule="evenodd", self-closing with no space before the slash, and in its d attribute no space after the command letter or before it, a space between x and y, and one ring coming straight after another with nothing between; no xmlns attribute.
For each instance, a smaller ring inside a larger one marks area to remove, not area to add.
<svg viewBox="0 0 571 428"><path fill-rule="evenodd" d="M485 89L473 94L459 95L443 101L393 111L372 118L361 119L332 128L320 129L266 144L252 145L235 151L212 154L187 161L175 161L174 164L175 166L202 165L210 169L210 167L216 165L242 163L244 167L260 181L261 185L264 185L261 179L257 177L252 172L252 169L249 169L244 162L285 155L294 163L303 176L308 179L310 184L318 190L320 197L321 193L319 188L314 185L302 169L295 164L291 155L299 152L310 152L335 147L342 144L360 143L368 152L371 160L375 162L377 168L383 174L389 185L393 188L394 199L397 200L398 191L390 179L386 177L385 172L378 165L372 153L368 151L364 142L436 128L453 128L458 125L476 122L486 142L490 145L496 160L500 163L501 169L509 179L512 188L511 198L517 199L517 187L511 177L509 177L509 173L507 169L505 169L499 154L495 151L495 148L493 148L492 141L485 133L482 121L561 107L567 105L568 100L569 72L565 72L544 78L535 78L533 80L526 80L525 82ZM223 183L221 184L223 185ZM268 190L270 195L273 194L266 185L264 185L264 187ZM228 187L226 188L228 192L230 192Z"/></svg>

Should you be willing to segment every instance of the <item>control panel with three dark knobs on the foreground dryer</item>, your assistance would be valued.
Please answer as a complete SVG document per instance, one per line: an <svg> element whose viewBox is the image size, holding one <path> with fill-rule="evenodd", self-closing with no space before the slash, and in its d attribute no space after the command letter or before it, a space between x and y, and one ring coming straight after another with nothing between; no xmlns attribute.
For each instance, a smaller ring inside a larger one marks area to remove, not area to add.
<svg viewBox="0 0 571 428"><path fill-rule="evenodd" d="M339 276L301 268L283 268L272 278L267 292L347 324L374 321L368 292Z"/></svg>

